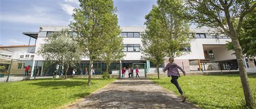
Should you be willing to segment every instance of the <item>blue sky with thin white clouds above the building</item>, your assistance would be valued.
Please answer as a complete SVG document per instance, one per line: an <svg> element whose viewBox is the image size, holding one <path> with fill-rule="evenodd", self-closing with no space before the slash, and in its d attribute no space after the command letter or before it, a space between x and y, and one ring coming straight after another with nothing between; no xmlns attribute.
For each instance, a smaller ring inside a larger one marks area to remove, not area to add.
<svg viewBox="0 0 256 109"><path fill-rule="evenodd" d="M156 1L114 0L118 24L144 26L144 17ZM74 8L79 8L78 0L0 0L0 44L28 45L29 37L22 32L38 32L40 25L67 26Z"/></svg>

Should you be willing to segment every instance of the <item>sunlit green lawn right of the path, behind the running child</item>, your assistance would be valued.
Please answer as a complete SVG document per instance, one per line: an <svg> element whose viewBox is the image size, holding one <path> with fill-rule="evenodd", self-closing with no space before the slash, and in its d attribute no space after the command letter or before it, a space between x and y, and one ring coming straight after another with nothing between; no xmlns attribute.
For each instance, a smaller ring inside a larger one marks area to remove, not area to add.
<svg viewBox="0 0 256 109"><path fill-rule="evenodd" d="M256 100L256 74L248 75L251 91ZM178 93L171 84L170 77L161 77L160 80L151 78L155 83ZM178 79L179 85L187 99L200 107L237 107L245 106L244 93L238 74L219 76L182 76Z"/></svg>

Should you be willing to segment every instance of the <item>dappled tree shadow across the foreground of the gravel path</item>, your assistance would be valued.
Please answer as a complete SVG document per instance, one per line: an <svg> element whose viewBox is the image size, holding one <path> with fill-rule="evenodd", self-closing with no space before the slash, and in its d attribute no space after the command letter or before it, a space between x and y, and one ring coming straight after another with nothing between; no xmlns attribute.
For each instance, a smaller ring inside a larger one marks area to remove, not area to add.
<svg viewBox="0 0 256 109"><path fill-rule="evenodd" d="M136 91L136 90L108 90L87 96L84 101L78 101L70 108L198 108L189 102L181 102L180 97L170 95L169 92L159 91ZM77 95L77 97L81 97Z"/></svg>

